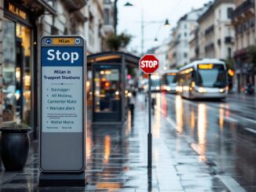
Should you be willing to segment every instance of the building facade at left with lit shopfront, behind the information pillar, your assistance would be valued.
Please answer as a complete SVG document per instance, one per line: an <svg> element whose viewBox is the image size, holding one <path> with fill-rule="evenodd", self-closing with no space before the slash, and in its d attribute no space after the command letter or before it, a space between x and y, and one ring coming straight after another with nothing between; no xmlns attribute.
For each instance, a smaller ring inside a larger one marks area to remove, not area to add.
<svg viewBox="0 0 256 192"><path fill-rule="evenodd" d="M23 122L38 136L39 53L43 35L77 34L87 54L102 50L104 2L0 1L0 124Z"/></svg>

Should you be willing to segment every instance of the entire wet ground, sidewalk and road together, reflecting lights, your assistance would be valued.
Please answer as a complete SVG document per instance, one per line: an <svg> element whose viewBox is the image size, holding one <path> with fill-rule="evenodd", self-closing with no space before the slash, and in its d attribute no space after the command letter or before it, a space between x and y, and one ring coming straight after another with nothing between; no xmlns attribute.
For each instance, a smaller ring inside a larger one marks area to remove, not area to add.
<svg viewBox="0 0 256 192"><path fill-rule="evenodd" d="M153 168L147 168L148 107L133 122L88 125L86 187L38 187L37 142L23 172L0 172L0 191L256 191L254 97L192 101L155 94Z"/></svg>

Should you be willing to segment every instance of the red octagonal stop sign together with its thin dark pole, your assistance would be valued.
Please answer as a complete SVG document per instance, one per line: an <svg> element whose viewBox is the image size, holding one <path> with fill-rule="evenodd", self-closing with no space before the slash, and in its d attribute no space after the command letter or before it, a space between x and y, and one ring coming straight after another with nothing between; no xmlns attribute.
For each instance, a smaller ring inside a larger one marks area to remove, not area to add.
<svg viewBox="0 0 256 192"><path fill-rule="evenodd" d="M152 168L152 132L151 132L151 74L159 67L159 60L154 55L145 55L140 60L140 68L148 74L148 168Z"/></svg>

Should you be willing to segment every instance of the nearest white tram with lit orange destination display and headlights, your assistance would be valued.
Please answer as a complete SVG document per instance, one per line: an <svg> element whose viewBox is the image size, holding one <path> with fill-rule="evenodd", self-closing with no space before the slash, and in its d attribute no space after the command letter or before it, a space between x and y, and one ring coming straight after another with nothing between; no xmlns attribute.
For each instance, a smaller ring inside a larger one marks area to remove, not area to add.
<svg viewBox="0 0 256 192"><path fill-rule="evenodd" d="M216 59L196 60L181 67L177 91L188 99L224 99L228 93L225 63Z"/></svg>

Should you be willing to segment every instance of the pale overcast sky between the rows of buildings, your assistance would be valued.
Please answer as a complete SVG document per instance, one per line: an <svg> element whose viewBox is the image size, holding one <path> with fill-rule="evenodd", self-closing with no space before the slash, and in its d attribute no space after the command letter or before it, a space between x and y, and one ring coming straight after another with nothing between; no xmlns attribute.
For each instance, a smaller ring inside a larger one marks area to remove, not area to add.
<svg viewBox="0 0 256 192"><path fill-rule="evenodd" d="M126 2L133 6L124 6ZM128 51L141 53L141 24L144 20L145 52L166 42L170 38L171 28L176 26L181 16L207 2L209 0L119 0L117 31L133 36ZM169 20L170 27L164 27L166 19ZM154 41L155 38L158 42Z"/></svg>

